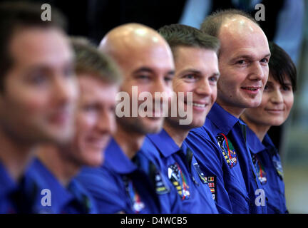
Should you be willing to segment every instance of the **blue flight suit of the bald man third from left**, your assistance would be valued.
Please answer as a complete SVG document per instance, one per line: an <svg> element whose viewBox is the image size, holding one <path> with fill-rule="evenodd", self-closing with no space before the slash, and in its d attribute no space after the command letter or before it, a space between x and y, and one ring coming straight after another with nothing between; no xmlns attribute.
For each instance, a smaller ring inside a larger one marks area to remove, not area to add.
<svg viewBox="0 0 308 228"><path fill-rule="evenodd" d="M100 213L180 213L180 200L155 160L140 150L130 160L112 139L101 167L85 167L77 179Z"/></svg>

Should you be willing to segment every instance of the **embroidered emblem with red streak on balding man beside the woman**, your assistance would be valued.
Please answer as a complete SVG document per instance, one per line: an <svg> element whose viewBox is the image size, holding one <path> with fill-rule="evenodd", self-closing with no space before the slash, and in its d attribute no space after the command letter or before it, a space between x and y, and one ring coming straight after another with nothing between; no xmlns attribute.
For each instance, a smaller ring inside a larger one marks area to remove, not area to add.
<svg viewBox="0 0 308 228"><path fill-rule="evenodd" d="M232 168L237 165L237 153L235 152L232 142L222 133L216 136L216 140L229 167Z"/></svg>

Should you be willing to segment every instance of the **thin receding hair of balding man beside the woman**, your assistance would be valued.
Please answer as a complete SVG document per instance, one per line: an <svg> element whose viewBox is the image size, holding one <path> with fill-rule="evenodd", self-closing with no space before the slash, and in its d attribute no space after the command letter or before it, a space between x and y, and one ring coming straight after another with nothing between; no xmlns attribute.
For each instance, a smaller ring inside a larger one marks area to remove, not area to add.
<svg viewBox="0 0 308 228"><path fill-rule="evenodd" d="M207 16L207 18L202 22L200 30L211 36L218 37L220 27L222 26L222 23L225 21L225 19L230 19L237 15L245 16L245 18L259 26L257 21L252 16L250 16L250 14L247 14L244 11L240 11L238 9L225 9L215 11L210 16Z"/></svg>

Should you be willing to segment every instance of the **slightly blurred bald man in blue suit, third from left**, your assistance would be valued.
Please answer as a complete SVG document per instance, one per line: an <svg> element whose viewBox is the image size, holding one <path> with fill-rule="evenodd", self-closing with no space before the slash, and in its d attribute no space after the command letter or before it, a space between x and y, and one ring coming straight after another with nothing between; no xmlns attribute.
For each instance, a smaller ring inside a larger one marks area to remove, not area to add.
<svg viewBox="0 0 308 228"><path fill-rule="evenodd" d="M85 168L78 180L95 197L101 213L180 213L180 199L158 170L158 161L141 149L147 133L161 130L163 113L148 110L153 117L133 114L143 103L138 99L143 92L152 98L155 92L170 96L174 75L170 47L152 28L125 24L113 28L99 48L114 58L123 72L120 90L124 102L128 98L128 115L120 115L117 106L118 130L106 149L105 163L97 169ZM155 103L163 105L160 99Z"/></svg>

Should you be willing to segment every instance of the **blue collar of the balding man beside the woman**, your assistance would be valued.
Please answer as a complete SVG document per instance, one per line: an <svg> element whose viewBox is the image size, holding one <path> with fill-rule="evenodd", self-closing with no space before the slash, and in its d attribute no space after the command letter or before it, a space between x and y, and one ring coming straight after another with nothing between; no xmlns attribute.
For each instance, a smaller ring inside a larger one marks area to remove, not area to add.
<svg viewBox="0 0 308 228"><path fill-rule="evenodd" d="M212 106L210 113L208 113L207 118L211 120L212 123L214 123L225 135L227 135L233 126L239 122L238 118L228 113L216 102ZM240 123L242 123L242 121L240 121Z"/></svg>

